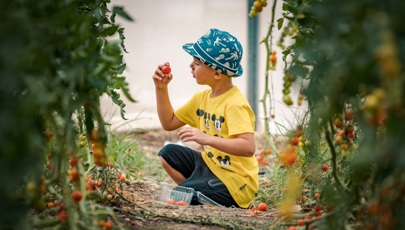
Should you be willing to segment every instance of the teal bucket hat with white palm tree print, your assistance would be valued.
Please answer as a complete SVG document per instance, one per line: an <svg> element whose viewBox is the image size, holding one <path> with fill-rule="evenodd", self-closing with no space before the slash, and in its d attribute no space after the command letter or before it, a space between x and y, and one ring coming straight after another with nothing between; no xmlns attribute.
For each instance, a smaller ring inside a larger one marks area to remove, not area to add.
<svg viewBox="0 0 405 230"><path fill-rule="evenodd" d="M185 44L183 49L218 73L228 77L243 73L242 46L226 31L210 29L196 43Z"/></svg>

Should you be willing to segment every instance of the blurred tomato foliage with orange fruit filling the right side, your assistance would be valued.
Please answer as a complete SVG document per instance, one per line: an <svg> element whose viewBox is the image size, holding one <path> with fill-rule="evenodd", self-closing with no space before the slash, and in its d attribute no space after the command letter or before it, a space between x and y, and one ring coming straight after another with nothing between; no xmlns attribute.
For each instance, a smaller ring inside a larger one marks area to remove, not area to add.
<svg viewBox="0 0 405 230"><path fill-rule="evenodd" d="M317 218L304 226L404 228L404 7L394 0L287 0L270 25L282 30L283 100L309 105L276 151L281 169L300 179L298 194L288 197ZM298 99L289 96L292 84Z"/></svg>

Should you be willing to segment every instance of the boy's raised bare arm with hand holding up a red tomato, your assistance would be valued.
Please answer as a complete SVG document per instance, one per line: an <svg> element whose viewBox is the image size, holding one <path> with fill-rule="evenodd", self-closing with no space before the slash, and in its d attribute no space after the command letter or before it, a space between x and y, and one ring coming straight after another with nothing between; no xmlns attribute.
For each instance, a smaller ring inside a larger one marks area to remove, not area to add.
<svg viewBox="0 0 405 230"><path fill-rule="evenodd" d="M173 75L164 74L162 72L164 66L166 65L169 66L169 63L166 62L164 65L158 66L153 74L153 82L155 83L156 106L160 124L162 125L163 129L173 131L184 126L185 123L181 122L176 116L174 116L174 109L169 100L167 87L169 82L172 80Z"/></svg>

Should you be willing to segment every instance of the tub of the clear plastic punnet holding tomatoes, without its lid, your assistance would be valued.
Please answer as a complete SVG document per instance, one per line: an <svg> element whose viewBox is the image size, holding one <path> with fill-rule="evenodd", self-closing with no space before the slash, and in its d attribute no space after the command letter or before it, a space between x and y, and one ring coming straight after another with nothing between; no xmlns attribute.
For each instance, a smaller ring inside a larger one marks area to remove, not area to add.
<svg viewBox="0 0 405 230"><path fill-rule="evenodd" d="M174 202L185 201L187 205L190 205L191 199L195 194L194 189L186 188L174 184L168 184L161 182L162 194L160 195L160 201L167 202L169 199L173 199Z"/></svg>

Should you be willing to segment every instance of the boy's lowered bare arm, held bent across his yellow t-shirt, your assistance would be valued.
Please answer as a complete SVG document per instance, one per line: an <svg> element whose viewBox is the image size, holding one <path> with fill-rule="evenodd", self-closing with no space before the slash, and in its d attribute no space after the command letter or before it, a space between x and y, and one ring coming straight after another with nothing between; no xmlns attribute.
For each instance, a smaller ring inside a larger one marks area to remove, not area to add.
<svg viewBox="0 0 405 230"><path fill-rule="evenodd" d="M256 143L253 133L241 133L235 135L235 138L228 139L218 136L210 136L198 128L182 128L178 133L180 138L186 141L195 141L202 146L209 145L222 152L235 155L251 157L255 155Z"/></svg>

